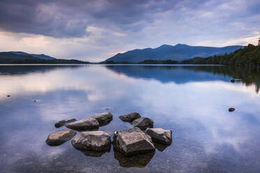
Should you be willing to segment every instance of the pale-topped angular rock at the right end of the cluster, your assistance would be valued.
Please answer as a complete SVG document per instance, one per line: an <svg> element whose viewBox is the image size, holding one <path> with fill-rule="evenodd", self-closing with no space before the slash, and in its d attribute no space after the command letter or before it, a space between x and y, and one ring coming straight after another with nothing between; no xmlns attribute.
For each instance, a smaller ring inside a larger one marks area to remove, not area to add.
<svg viewBox="0 0 260 173"><path fill-rule="evenodd" d="M147 128L145 132L147 135L152 137L154 142L158 142L160 144L170 145L173 140L171 130L164 130L162 128Z"/></svg>

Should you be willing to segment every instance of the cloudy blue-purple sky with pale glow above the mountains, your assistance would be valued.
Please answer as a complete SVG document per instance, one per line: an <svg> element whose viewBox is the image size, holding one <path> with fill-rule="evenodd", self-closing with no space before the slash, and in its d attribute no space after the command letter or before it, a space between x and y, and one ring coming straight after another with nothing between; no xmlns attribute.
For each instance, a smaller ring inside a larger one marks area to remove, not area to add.
<svg viewBox="0 0 260 173"><path fill-rule="evenodd" d="M160 45L257 45L259 0L1 0L0 51L103 61Z"/></svg>

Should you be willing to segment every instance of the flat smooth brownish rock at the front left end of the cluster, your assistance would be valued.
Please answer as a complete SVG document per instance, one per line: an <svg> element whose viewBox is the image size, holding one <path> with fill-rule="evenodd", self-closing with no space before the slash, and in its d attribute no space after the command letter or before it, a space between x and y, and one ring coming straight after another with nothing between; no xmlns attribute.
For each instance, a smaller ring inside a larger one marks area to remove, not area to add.
<svg viewBox="0 0 260 173"><path fill-rule="evenodd" d="M76 132L74 130L58 130L55 133L50 134L45 142L50 146L57 146L71 140L75 134Z"/></svg>

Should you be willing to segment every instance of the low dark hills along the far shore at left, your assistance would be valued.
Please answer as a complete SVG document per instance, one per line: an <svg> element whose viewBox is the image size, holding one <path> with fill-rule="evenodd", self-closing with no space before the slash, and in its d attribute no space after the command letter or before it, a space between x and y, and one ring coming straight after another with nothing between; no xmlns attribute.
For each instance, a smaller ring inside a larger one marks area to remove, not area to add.
<svg viewBox="0 0 260 173"><path fill-rule="evenodd" d="M26 52L0 52L0 63L89 63L76 59L55 59L45 54L28 54Z"/></svg>

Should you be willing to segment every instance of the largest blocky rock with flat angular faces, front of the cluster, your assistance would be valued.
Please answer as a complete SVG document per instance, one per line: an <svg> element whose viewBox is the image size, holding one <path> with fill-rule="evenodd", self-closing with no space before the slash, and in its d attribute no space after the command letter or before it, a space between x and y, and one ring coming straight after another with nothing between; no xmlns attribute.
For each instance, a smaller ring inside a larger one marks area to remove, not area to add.
<svg viewBox="0 0 260 173"><path fill-rule="evenodd" d="M113 144L125 156L147 153L155 149L152 139L140 130L140 128L136 127L129 130L116 131L114 133Z"/></svg>

